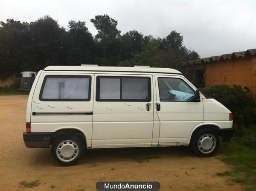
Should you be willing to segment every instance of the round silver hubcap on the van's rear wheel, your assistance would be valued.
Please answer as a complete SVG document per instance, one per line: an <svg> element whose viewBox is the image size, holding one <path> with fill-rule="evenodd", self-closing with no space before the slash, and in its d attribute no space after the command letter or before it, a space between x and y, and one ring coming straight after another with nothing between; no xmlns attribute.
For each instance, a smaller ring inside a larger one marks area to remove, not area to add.
<svg viewBox="0 0 256 191"><path fill-rule="evenodd" d="M56 149L58 159L64 162L70 162L76 159L78 152L78 145L71 140L61 142Z"/></svg>

